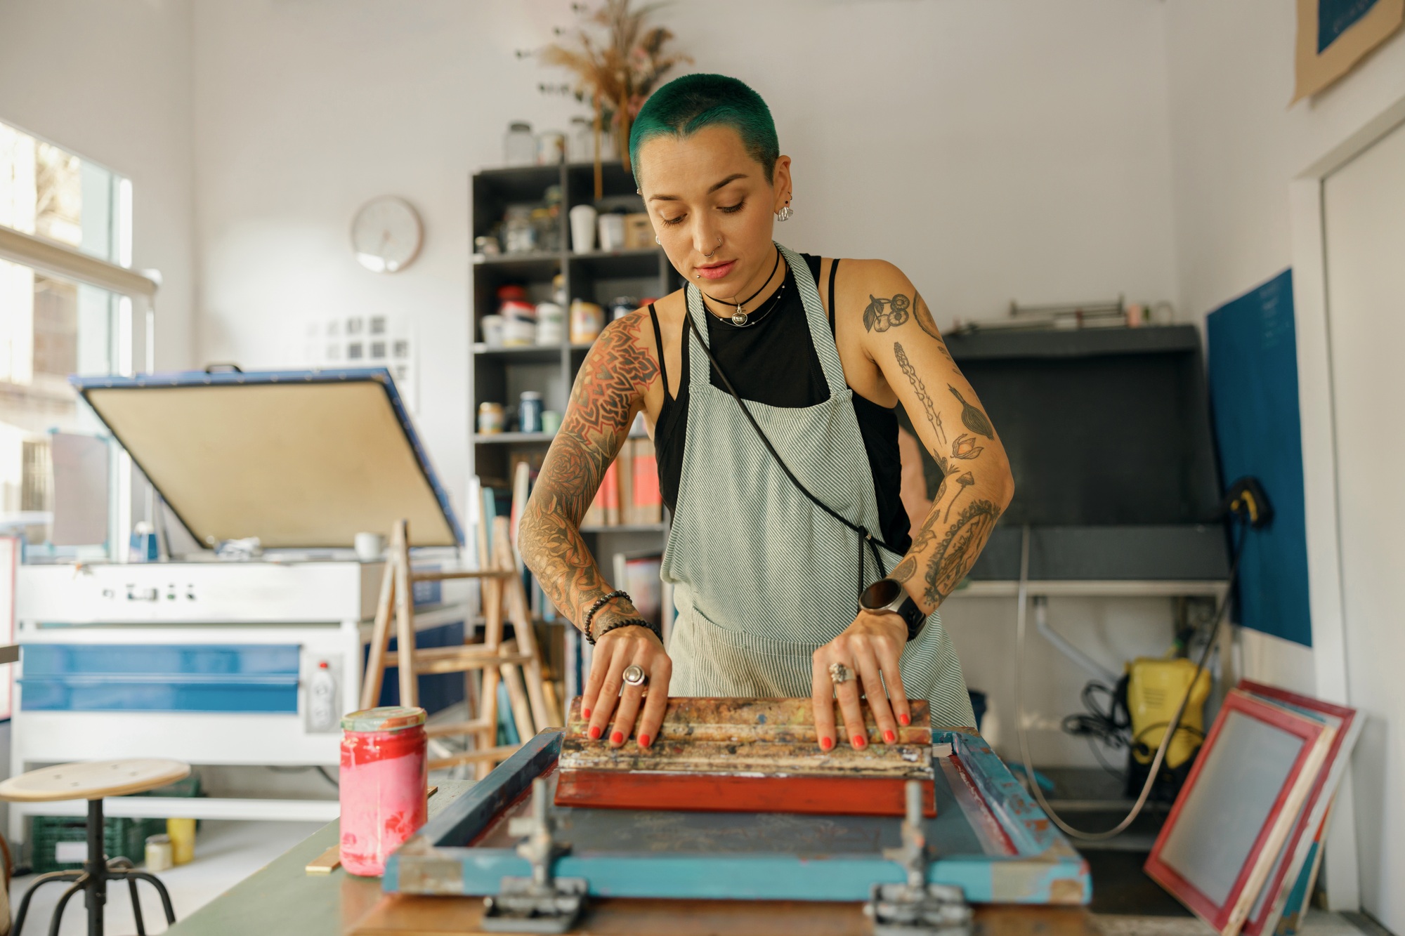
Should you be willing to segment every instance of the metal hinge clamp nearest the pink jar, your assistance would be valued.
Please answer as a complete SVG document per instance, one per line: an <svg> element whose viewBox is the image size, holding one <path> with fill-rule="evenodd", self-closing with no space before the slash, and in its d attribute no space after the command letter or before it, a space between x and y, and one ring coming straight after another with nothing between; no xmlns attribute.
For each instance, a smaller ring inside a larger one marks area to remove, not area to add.
<svg viewBox="0 0 1405 936"><path fill-rule="evenodd" d="M555 824L547 812L547 781L531 781L531 817L511 819L509 835L527 836L517 854L531 862L531 877L504 877L502 892L483 898L482 928L490 933L565 933L584 906L583 877L554 877L551 867L570 845L552 839Z"/></svg>

